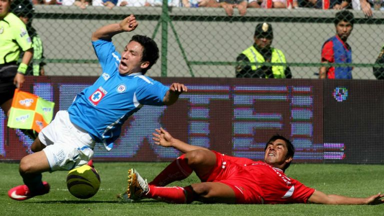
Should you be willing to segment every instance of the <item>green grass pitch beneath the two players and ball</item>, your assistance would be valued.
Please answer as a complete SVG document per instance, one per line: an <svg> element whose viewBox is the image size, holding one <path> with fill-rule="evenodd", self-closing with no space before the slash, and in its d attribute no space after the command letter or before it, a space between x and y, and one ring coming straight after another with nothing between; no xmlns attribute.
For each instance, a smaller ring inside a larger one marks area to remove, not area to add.
<svg viewBox="0 0 384 216"><path fill-rule="evenodd" d="M0 216L384 216L384 204L378 206L293 205L173 205L155 200L121 203L116 194L126 187L126 174L134 167L141 176L152 180L167 163L94 163L100 174L97 194L87 200L69 194L65 185L66 171L44 173L49 194L18 202L8 198L7 191L22 184L18 164L0 163ZM367 197L384 192L382 165L292 164L288 177L325 192L350 197ZM192 174L173 185L197 182Z"/></svg>

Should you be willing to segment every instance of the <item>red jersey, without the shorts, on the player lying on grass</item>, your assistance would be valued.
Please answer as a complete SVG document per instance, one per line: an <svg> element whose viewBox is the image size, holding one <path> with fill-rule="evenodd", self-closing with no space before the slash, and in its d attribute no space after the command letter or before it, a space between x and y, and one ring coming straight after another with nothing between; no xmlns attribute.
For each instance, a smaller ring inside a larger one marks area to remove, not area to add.
<svg viewBox="0 0 384 216"><path fill-rule="evenodd" d="M247 164L246 167L255 180L255 187L259 189L264 204L306 203L315 191L262 161Z"/></svg>

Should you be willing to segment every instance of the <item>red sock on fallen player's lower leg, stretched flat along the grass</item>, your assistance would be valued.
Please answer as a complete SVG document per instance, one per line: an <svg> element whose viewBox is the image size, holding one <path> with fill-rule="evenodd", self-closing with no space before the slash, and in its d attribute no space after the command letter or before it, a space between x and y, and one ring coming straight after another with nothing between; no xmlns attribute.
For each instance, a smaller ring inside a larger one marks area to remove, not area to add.
<svg viewBox="0 0 384 216"><path fill-rule="evenodd" d="M149 185L146 198L161 200L166 203L188 204L193 201L193 190L187 187L156 187Z"/></svg>

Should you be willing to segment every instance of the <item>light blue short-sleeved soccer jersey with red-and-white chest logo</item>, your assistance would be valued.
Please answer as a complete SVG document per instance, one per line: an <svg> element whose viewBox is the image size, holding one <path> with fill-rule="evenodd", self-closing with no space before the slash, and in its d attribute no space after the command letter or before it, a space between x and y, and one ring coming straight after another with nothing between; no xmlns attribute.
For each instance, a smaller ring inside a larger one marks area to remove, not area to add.
<svg viewBox="0 0 384 216"><path fill-rule="evenodd" d="M84 129L107 150L120 136L121 125L143 105L164 105L168 87L141 73L120 75L120 54L111 41L92 41L102 74L77 94L68 108L70 121Z"/></svg>

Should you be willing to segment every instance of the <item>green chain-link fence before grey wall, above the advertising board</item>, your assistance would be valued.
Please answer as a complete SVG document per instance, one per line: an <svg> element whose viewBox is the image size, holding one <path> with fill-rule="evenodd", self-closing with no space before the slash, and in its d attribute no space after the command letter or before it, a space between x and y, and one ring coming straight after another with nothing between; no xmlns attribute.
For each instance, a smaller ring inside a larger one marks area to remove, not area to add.
<svg viewBox="0 0 384 216"><path fill-rule="evenodd" d="M233 16L223 8L106 7L35 5L32 25L43 41L46 75L99 75L100 67L90 43L91 32L118 22L130 13L139 21L133 33L114 36L118 51L133 34L145 34L157 42L161 58L149 76L235 77L236 57L253 44L255 26L269 22L272 46L280 49L293 78L317 78L321 47L335 35L338 10L248 8ZM372 66L384 44L384 11L367 18L350 10L354 26L347 43L352 49L353 78L375 79ZM382 66L382 65L381 65Z"/></svg>

